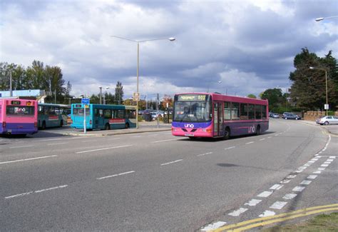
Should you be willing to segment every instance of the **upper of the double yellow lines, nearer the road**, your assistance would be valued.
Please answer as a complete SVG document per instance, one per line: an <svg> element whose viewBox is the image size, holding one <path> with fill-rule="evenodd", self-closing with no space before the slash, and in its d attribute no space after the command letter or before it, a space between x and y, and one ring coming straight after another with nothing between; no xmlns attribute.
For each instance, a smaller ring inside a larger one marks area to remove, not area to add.
<svg viewBox="0 0 338 232"><path fill-rule="evenodd" d="M255 219L248 220L248 221L242 221L240 223L235 223L235 224L231 224L231 225L228 225L228 226L223 226L223 227L217 228L217 229L215 229L213 231L224 231L224 230L226 230L228 228L235 228L235 227L245 226L245 225L250 224L250 223L269 221L271 219L292 216L292 215L295 215L295 214L298 214L298 213L303 213L304 214L307 211L313 211L313 210L316 210L316 209L319 209L319 208L332 208L332 207L337 207L337 206L338 206L338 203L332 204L332 205L327 205L327 206L314 206L314 207L311 207L311 208L303 208L303 209L299 209L297 211L293 211L293 212L290 212L290 213L281 213L281 214L277 214L277 215L274 215L274 216L267 216L267 217L264 217L264 218L255 218Z"/></svg>

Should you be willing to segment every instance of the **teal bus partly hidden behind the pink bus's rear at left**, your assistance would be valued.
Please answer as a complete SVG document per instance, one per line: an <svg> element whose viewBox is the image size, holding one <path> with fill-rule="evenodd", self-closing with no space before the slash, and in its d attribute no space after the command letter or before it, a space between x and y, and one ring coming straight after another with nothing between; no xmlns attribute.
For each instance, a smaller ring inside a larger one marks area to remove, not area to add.
<svg viewBox="0 0 338 232"><path fill-rule="evenodd" d="M71 106L68 105L39 103L38 106L38 125L42 130L65 125L67 115L71 114Z"/></svg>

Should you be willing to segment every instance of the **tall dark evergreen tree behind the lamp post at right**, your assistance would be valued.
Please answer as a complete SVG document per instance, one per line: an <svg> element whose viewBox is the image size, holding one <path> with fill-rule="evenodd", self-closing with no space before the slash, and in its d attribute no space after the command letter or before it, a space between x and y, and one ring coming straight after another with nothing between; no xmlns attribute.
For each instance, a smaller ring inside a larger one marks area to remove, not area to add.
<svg viewBox="0 0 338 232"><path fill-rule="evenodd" d="M326 103L326 80L327 70L327 92L328 101L332 109L338 106L338 74L337 59L332 57L332 51L320 58L314 53L310 53L307 48L302 49L294 59L295 71L290 73L289 79L292 81L290 99L292 104L302 110L324 109ZM309 67L317 69L309 69Z"/></svg>

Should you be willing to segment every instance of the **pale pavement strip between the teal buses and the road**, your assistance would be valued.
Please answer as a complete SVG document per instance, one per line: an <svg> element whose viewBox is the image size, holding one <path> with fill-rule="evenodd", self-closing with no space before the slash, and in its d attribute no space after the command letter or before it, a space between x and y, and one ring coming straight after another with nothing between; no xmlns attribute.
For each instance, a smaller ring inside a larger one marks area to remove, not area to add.
<svg viewBox="0 0 338 232"><path fill-rule="evenodd" d="M138 123L138 128L128 128L128 129L118 129L118 130L93 130L86 131L83 133L83 130L73 129L71 132L65 132L65 136L115 136L126 133L146 133L146 132L155 132L155 131L170 131L171 123L157 123L157 121L142 121Z"/></svg>

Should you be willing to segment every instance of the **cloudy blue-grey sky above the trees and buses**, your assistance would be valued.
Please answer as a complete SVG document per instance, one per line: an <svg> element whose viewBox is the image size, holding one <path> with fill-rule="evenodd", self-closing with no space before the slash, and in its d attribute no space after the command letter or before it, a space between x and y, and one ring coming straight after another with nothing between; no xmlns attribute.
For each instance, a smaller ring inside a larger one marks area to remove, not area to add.
<svg viewBox="0 0 338 232"><path fill-rule="evenodd" d="M59 66L74 96L98 94L99 86L114 94L121 81L127 98L137 88L135 41L144 41L142 99L206 91L258 96L287 91L304 47L338 57L338 17L314 20L337 15L336 0L0 0L0 62Z"/></svg>

